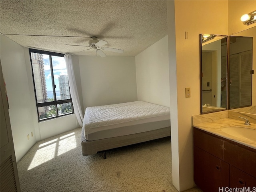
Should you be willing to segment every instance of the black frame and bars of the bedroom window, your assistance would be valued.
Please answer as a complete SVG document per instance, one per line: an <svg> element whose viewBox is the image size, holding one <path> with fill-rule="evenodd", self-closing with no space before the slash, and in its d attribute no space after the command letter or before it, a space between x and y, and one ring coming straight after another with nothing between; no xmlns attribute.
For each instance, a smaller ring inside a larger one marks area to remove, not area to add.
<svg viewBox="0 0 256 192"><path fill-rule="evenodd" d="M31 53L47 54L47 55L50 56L49 61L50 61L50 68L51 68L50 70L51 70L52 90L53 90L54 101L38 103L37 96L36 96L36 84L35 84L35 79L34 79L34 71L33 71ZM45 120L50 120L50 119L54 119L54 118L74 114L74 107L73 107L71 94L70 94L70 99L64 99L64 100L57 100L56 99L56 85L55 85L55 82L54 82L54 73L53 73L53 67L52 67L52 56L64 57L64 54L29 48L29 56L30 56L30 63L31 63L31 70L32 70L32 77L33 77L33 86L34 86L34 93L35 93L35 99L36 99L36 110L37 110L38 122L42 122L42 121L45 121ZM69 92L70 92L70 87L69 87ZM71 103L72 112L67 113L67 114L59 115L59 113L58 113L58 104L64 104L64 103ZM53 105L56 108L56 116L40 119L38 108L46 107L46 106L53 106Z"/></svg>

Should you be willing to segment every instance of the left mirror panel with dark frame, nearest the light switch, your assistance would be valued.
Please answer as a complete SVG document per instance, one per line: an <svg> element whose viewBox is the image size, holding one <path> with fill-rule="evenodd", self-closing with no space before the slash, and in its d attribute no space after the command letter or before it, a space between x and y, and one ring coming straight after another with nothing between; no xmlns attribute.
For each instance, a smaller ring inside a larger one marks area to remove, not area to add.
<svg viewBox="0 0 256 192"><path fill-rule="evenodd" d="M227 38L201 34L201 114L227 108Z"/></svg>

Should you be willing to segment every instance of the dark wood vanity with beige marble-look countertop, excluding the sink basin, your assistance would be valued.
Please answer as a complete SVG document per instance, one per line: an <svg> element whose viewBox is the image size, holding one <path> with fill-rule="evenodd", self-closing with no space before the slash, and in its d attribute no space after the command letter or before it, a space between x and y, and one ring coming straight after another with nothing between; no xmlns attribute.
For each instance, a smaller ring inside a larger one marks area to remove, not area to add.
<svg viewBox="0 0 256 192"><path fill-rule="evenodd" d="M246 127L229 118L194 125L194 181L204 192L225 187L256 190L256 132L252 140L239 138L222 131L230 126L256 129L256 124Z"/></svg>

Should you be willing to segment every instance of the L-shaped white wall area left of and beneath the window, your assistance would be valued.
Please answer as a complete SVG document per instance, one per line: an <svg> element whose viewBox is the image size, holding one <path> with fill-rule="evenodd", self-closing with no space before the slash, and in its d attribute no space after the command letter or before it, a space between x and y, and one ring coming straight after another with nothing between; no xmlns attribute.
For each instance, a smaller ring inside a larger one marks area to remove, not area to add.
<svg viewBox="0 0 256 192"><path fill-rule="evenodd" d="M6 36L1 35L0 38L0 57L18 162L37 141L72 130L79 125L74 114L38 123L28 48L23 48ZM31 137L31 132L34 137ZM27 139L28 134L30 140Z"/></svg>

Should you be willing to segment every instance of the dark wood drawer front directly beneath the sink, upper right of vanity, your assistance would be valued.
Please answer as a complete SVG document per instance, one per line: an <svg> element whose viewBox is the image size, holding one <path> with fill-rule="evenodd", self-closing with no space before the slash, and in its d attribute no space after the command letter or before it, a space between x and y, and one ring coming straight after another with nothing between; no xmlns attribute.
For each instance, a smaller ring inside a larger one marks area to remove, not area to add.
<svg viewBox="0 0 256 192"><path fill-rule="evenodd" d="M223 160L256 178L256 150L248 150L231 142L223 142Z"/></svg>

